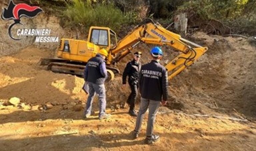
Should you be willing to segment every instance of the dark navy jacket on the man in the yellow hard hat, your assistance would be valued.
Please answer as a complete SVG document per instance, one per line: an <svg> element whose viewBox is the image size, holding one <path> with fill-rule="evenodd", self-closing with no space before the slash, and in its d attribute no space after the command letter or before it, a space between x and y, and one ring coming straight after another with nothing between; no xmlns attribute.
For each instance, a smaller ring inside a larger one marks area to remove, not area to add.
<svg viewBox="0 0 256 151"><path fill-rule="evenodd" d="M103 84L107 78L106 63L100 54L88 60L84 70L84 80L95 84Z"/></svg>

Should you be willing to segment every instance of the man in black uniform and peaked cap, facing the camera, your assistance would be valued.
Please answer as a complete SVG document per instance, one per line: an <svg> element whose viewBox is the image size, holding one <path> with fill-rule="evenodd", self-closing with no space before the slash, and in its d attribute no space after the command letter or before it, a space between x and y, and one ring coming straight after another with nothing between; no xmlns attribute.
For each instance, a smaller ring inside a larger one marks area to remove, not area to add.
<svg viewBox="0 0 256 151"><path fill-rule="evenodd" d="M128 83L131 88L131 94L127 99L127 104L130 105L129 114L131 116L137 116L134 107L135 107L135 100L138 95L138 80L139 80L139 72L141 68L140 64L140 57L141 52L135 52L133 55L133 60L128 62L124 72L123 72L123 88L126 86L126 77L128 76Z"/></svg>

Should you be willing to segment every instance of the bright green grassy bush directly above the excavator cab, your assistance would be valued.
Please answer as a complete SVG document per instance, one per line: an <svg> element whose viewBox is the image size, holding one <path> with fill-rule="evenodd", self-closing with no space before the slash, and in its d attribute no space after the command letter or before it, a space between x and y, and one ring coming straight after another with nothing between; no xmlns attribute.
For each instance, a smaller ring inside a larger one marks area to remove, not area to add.
<svg viewBox="0 0 256 151"><path fill-rule="evenodd" d="M66 25L82 27L85 31L90 26L105 26L119 31L122 25L129 22L129 17L114 4L93 4L91 0L73 0L73 3L67 5L64 15L67 17Z"/></svg>

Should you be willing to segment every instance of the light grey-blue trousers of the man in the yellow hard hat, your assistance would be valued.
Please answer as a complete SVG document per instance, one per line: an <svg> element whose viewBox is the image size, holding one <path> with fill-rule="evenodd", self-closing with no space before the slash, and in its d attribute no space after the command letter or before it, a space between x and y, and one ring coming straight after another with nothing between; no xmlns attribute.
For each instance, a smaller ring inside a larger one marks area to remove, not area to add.
<svg viewBox="0 0 256 151"><path fill-rule="evenodd" d="M94 84L92 82L87 82L89 86L89 96L86 102L86 108L84 113L91 114L92 111L92 103L95 93L99 97L99 117L106 113L106 90L104 84Z"/></svg>

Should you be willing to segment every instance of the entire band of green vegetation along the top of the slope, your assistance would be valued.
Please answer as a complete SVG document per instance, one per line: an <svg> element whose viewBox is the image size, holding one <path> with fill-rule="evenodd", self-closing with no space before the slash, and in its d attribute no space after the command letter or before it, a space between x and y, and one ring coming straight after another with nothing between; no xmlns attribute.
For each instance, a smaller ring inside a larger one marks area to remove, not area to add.
<svg viewBox="0 0 256 151"><path fill-rule="evenodd" d="M121 26L137 25L153 18L164 25L173 16L187 13L192 26L217 20L232 33L256 34L256 0L24 0L56 13L61 25L87 32L90 26L106 26L116 32Z"/></svg>

